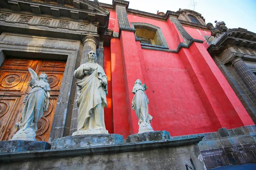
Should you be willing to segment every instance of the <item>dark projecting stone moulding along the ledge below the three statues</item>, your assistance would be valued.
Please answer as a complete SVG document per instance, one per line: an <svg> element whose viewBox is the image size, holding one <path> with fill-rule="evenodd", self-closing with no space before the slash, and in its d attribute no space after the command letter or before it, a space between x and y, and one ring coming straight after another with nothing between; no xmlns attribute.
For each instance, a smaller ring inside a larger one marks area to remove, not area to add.
<svg viewBox="0 0 256 170"><path fill-rule="evenodd" d="M0 162L16 162L16 161L32 161L35 159L44 158L64 158L70 156L87 156L87 155L99 155L121 152L132 152L139 150L152 150L158 148L168 148L184 146L189 144L198 144L204 136L189 137L184 139L170 139L163 141L151 141L151 142L132 142L125 144L115 144L108 146L95 146L95 147L83 147L83 148L70 148L59 150L40 150L40 151L27 151L20 153L3 153L0 154Z"/></svg>

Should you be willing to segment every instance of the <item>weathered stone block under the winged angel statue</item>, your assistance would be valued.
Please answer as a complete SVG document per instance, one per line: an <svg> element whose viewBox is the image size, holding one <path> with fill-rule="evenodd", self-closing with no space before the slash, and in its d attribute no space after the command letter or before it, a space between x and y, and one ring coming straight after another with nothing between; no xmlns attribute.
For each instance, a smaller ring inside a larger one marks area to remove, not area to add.
<svg viewBox="0 0 256 170"><path fill-rule="evenodd" d="M0 141L0 153L22 152L30 150L48 150L51 145L41 141L10 140Z"/></svg>

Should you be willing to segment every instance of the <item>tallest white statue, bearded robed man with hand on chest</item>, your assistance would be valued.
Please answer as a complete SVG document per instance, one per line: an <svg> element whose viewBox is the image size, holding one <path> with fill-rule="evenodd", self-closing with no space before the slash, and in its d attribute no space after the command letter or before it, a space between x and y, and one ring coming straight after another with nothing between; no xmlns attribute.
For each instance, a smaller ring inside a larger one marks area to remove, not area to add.
<svg viewBox="0 0 256 170"><path fill-rule="evenodd" d="M104 107L107 107L107 77L103 68L96 63L95 51L87 55L87 62L74 72L78 99L77 131L72 135L108 133L104 122Z"/></svg>

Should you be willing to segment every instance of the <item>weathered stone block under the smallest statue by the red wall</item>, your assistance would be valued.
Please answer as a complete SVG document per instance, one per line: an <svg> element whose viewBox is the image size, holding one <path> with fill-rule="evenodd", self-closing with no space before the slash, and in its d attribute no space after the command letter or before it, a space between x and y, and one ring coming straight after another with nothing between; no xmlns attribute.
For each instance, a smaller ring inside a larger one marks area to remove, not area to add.
<svg viewBox="0 0 256 170"><path fill-rule="evenodd" d="M126 142L147 142L171 139L171 135L167 131L144 132L127 137Z"/></svg>

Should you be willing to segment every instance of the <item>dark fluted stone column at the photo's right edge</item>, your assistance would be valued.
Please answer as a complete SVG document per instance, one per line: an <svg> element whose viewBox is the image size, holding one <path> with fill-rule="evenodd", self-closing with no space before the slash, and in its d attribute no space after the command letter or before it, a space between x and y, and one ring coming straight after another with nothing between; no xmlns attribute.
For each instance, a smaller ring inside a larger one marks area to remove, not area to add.
<svg viewBox="0 0 256 170"><path fill-rule="evenodd" d="M234 57L230 63L233 65L234 68L238 71L239 75L243 77L244 81L250 87L251 91L253 92L254 96L256 96L256 76L253 72L248 68L248 66L244 63L241 57Z"/></svg>

